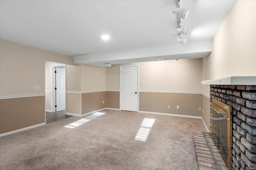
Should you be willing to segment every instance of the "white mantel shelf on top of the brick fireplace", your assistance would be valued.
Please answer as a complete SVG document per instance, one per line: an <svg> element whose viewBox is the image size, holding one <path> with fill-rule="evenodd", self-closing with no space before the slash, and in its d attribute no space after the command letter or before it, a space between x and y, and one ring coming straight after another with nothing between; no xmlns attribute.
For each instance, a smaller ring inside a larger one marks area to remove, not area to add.
<svg viewBox="0 0 256 170"><path fill-rule="evenodd" d="M256 76L232 76L214 80L204 80L201 84L216 85L256 85Z"/></svg>

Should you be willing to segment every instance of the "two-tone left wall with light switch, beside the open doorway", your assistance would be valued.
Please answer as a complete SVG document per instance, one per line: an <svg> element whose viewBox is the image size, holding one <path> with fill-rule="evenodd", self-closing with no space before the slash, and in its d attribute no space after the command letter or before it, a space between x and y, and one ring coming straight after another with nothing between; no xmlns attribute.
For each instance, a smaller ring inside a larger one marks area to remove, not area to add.
<svg viewBox="0 0 256 170"><path fill-rule="evenodd" d="M1 39L0 96L45 94L46 61L74 65L73 57ZM34 90L34 85L41 89ZM0 133L44 123L45 98L49 95L1 99Z"/></svg>

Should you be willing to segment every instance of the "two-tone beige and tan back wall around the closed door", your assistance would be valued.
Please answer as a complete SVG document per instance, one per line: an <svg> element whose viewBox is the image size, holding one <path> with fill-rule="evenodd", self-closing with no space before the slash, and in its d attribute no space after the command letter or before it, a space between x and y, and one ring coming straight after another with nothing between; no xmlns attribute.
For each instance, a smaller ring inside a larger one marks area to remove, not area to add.
<svg viewBox="0 0 256 170"><path fill-rule="evenodd" d="M139 90L160 92L188 92L199 94L139 93L139 111L201 116L202 59L183 59L131 64L116 64L106 68L106 106L120 108L120 66L139 66ZM140 84L143 81L144 84ZM111 100L110 100L111 98ZM168 109L168 105L171 106ZM176 109L180 106L180 109Z"/></svg>

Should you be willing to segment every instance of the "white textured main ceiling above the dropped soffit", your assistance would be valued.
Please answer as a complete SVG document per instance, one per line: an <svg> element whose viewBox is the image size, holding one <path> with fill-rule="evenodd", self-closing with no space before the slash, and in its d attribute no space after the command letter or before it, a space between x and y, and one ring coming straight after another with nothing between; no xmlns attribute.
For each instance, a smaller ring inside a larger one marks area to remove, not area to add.
<svg viewBox="0 0 256 170"><path fill-rule="evenodd" d="M187 43L212 40L235 2L181 0L181 8L190 8L186 20L181 20L189 27L188 35L182 37ZM175 32L178 17L172 14L176 6L176 0L1 0L0 37L84 59L86 55L172 48L180 44ZM103 34L110 39L101 40Z"/></svg>

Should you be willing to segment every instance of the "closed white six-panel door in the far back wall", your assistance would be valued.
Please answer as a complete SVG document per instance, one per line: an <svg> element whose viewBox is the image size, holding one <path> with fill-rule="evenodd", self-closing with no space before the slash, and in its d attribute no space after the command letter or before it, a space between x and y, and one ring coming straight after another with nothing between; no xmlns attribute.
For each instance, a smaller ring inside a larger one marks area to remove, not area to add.
<svg viewBox="0 0 256 170"><path fill-rule="evenodd" d="M138 66L121 67L121 110L138 111Z"/></svg>

